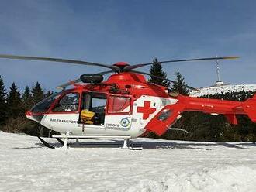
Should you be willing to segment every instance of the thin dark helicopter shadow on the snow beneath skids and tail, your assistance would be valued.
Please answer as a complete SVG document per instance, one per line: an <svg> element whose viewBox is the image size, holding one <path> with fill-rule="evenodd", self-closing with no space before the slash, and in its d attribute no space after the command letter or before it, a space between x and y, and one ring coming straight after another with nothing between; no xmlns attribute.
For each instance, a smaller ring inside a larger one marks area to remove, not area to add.
<svg viewBox="0 0 256 192"><path fill-rule="evenodd" d="M55 146L56 148L61 148L61 144L59 142L50 142L51 146ZM76 145L74 142L70 142L69 146L71 148L120 148L123 146L123 141L109 139L108 141L90 141L90 142L79 142L79 145ZM250 149L249 146L255 146L254 143L250 142L164 142L164 141L130 141L130 146L142 146L143 149L197 149L197 150L213 150L207 148L207 146L224 146L227 148L234 149ZM43 147L43 143L36 143L36 148Z"/></svg>

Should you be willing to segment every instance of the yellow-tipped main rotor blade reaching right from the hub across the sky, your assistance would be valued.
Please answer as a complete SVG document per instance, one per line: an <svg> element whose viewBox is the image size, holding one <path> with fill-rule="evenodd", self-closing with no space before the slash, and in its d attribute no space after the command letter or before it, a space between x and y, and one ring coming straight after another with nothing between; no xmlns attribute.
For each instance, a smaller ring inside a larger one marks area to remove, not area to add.
<svg viewBox="0 0 256 192"><path fill-rule="evenodd" d="M196 61L196 60L236 60L239 57L237 56L230 56L230 57L206 57L206 58L198 58L198 59L185 59L185 60L164 60L164 61L157 61L157 63L176 63L176 62L183 62L183 61ZM133 70L139 67L144 67L147 65L152 65L152 63L142 63L142 64L136 64L136 65L131 65L128 67L125 67L125 71Z"/></svg>

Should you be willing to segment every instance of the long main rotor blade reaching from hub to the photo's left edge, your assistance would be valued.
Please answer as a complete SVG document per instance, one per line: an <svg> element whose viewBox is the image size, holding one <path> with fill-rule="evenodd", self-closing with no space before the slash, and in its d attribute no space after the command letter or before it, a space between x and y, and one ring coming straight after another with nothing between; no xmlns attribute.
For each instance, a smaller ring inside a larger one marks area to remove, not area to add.
<svg viewBox="0 0 256 192"><path fill-rule="evenodd" d="M117 69L116 66L101 64L101 63L92 63L92 62L87 62L83 60L65 60L61 58L30 57L30 56L4 55L4 54L0 54L0 58L14 59L14 60L43 60L43 61L52 61L52 62L60 62L60 63L73 63L73 64L80 64L80 65L99 66L99 67L109 68L112 70Z"/></svg>

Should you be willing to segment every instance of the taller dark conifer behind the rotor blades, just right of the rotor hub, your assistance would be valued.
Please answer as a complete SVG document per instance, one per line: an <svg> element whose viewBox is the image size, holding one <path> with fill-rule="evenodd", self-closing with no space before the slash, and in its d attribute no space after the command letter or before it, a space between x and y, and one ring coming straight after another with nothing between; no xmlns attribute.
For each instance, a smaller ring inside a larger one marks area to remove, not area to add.
<svg viewBox="0 0 256 192"><path fill-rule="evenodd" d="M151 65L151 67L150 67L150 74L152 74L154 76L166 78L167 75L164 72L164 70L161 66L161 63L158 62L157 58L154 58L153 63L154 64ZM163 80L161 80L157 77L150 77L148 82L154 83L154 84L159 84L159 85L162 85L164 87L169 87L169 85L170 85L170 83L168 81L163 81Z"/></svg>

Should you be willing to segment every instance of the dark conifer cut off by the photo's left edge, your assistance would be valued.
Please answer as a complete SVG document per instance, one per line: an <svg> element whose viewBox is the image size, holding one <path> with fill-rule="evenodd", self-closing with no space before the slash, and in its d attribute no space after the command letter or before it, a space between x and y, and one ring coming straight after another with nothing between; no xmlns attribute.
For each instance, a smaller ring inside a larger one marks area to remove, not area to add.
<svg viewBox="0 0 256 192"><path fill-rule="evenodd" d="M5 92L5 85L2 77L0 76L0 125L3 125L6 120L6 92Z"/></svg>

